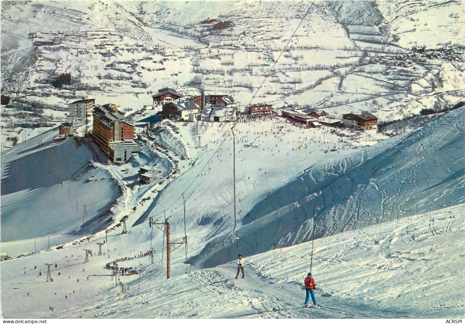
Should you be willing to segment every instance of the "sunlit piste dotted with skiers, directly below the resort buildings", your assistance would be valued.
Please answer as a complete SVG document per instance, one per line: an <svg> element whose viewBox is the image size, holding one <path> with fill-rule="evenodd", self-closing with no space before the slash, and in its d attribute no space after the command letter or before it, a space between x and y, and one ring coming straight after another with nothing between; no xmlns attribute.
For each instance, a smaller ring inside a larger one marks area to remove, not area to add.
<svg viewBox="0 0 465 324"><path fill-rule="evenodd" d="M137 222L141 224L149 214L154 220L164 219L164 212L166 217L183 219L181 193L184 193L188 228L198 231L199 224L207 225L209 234L205 229L195 235L202 246L205 237L232 230L234 225L232 125L206 125L200 122L179 126L181 140L193 165L188 170L181 169L181 175L159 193L157 204L149 207L143 219ZM235 132L238 219L249 217L247 213L254 205L299 177L317 161L330 161L351 154L362 143L372 145L386 138L372 138L366 134L348 137L346 135L351 132L347 130L301 129L280 117L255 122L245 119L236 124ZM168 134L163 136L165 140L170 139Z"/></svg>

